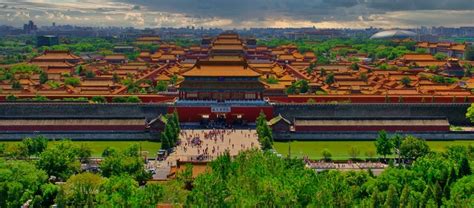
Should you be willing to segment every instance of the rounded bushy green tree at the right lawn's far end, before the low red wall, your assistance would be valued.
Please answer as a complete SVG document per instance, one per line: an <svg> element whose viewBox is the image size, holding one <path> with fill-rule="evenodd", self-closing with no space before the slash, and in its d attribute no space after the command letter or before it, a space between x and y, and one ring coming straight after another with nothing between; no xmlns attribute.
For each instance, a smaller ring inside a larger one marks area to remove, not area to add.
<svg viewBox="0 0 474 208"><path fill-rule="evenodd" d="M425 140L413 136L407 136L400 145L400 155L409 160L416 160L429 152L430 148Z"/></svg>

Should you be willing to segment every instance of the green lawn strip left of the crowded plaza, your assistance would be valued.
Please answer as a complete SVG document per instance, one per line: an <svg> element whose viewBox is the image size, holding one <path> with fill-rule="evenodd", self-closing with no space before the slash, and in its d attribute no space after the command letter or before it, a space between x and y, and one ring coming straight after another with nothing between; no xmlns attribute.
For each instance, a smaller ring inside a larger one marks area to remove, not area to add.
<svg viewBox="0 0 474 208"><path fill-rule="evenodd" d="M7 145L13 145L18 142L0 142ZM57 141L49 142L48 146L54 145ZM114 147L118 150L123 150L133 144L138 144L141 146L142 151L148 151L150 156L154 156L156 151L161 147L159 142L149 142L149 141L73 141L74 144L81 145L86 144L92 149L92 156L97 157L101 156L102 152L107 147Z"/></svg>

